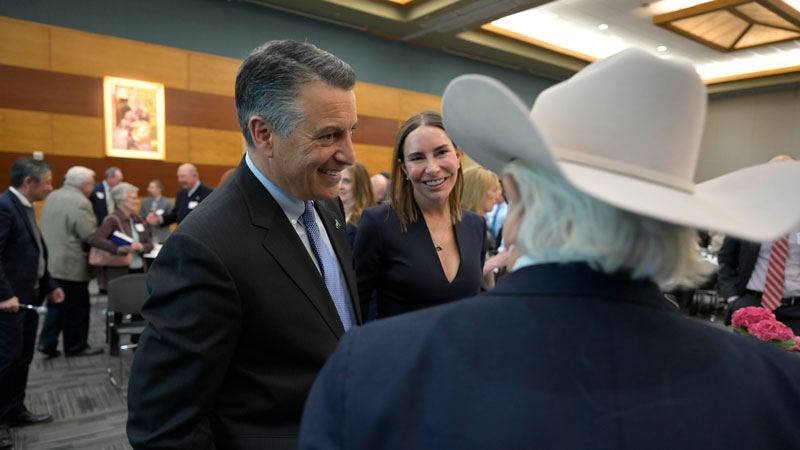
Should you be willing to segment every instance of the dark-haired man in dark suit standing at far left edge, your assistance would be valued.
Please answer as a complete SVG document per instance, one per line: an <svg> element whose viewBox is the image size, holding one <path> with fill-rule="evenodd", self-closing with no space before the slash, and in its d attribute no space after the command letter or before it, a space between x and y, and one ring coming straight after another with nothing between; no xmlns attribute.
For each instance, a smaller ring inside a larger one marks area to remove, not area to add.
<svg viewBox="0 0 800 450"><path fill-rule="evenodd" d="M9 425L52 419L23 403L39 316L20 306L40 306L47 295L64 301L64 291L47 271L47 248L33 209L53 190L52 180L47 163L21 158L11 166L11 187L0 195L0 448L13 445Z"/></svg>

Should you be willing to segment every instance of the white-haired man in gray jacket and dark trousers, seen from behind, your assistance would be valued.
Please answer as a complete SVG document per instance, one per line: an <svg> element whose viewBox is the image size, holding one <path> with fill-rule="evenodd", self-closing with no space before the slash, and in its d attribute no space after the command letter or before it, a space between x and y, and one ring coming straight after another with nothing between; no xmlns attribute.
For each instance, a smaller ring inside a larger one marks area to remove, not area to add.
<svg viewBox="0 0 800 450"><path fill-rule="evenodd" d="M42 207L42 237L47 244L50 275L64 289L64 302L48 302L39 334L39 351L58 356L58 335L64 332L66 356L89 356L102 349L89 346L89 235L97 227L92 203L94 171L71 167L64 185L47 197Z"/></svg>

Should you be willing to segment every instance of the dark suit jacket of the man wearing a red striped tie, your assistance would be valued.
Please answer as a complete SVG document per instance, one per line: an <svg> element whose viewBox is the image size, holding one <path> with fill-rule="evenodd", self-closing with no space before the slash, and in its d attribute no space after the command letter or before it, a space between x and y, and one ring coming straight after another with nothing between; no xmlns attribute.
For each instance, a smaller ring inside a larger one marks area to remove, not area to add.
<svg viewBox="0 0 800 450"><path fill-rule="evenodd" d="M719 291L723 298L741 297L758 261L761 244L726 237L719 250Z"/></svg>

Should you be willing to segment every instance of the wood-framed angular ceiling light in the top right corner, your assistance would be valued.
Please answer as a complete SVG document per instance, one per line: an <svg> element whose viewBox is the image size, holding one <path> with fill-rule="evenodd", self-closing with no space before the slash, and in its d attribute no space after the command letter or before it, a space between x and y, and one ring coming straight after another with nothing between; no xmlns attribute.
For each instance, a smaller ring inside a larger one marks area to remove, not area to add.
<svg viewBox="0 0 800 450"><path fill-rule="evenodd" d="M714 0L653 23L723 52L800 38L800 11L781 0Z"/></svg>

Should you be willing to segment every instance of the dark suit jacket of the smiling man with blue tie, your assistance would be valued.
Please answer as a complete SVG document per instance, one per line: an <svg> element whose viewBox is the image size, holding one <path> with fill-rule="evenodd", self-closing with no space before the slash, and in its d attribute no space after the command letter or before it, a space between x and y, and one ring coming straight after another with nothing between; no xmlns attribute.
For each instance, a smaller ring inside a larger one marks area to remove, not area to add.
<svg viewBox="0 0 800 450"><path fill-rule="evenodd" d="M361 323L341 202L316 202ZM311 384L344 334L281 207L242 162L148 276L133 364L134 448L294 449Z"/></svg>

